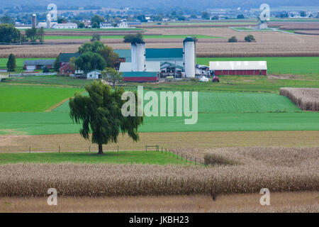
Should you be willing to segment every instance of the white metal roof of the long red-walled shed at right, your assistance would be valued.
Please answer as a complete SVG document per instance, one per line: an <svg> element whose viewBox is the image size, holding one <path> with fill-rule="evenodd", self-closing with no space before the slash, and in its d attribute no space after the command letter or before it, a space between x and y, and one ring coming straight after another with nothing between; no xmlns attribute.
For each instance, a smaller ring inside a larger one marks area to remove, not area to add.
<svg viewBox="0 0 319 227"><path fill-rule="evenodd" d="M267 61L209 62L210 70L267 70Z"/></svg>

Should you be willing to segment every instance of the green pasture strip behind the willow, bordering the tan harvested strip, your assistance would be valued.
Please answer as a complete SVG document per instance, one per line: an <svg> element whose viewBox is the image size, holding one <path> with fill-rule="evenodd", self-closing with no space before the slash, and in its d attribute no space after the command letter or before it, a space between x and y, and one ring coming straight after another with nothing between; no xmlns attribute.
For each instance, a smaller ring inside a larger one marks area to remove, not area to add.
<svg viewBox="0 0 319 227"><path fill-rule="evenodd" d="M318 131L318 112L198 114L196 124L184 117L145 117L140 132ZM0 133L47 135L79 133L68 113L0 113Z"/></svg>

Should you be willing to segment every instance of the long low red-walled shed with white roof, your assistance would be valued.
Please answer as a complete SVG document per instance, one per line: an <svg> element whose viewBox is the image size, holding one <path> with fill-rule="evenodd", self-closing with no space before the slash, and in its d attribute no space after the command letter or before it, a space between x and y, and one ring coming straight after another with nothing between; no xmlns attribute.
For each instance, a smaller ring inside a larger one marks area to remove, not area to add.
<svg viewBox="0 0 319 227"><path fill-rule="evenodd" d="M267 75L267 61L209 62L216 75Z"/></svg>

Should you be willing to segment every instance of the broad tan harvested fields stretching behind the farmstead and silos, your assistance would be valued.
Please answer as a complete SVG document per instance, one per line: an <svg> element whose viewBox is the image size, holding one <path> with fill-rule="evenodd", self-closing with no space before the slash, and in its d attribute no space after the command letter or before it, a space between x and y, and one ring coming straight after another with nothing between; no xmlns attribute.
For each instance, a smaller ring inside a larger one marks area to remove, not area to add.
<svg viewBox="0 0 319 227"><path fill-rule="evenodd" d="M319 56L319 36L316 35L287 34L274 31L237 32L230 28L152 28L147 29L146 33L213 35L225 38L235 35L238 40L244 40L245 35L252 34L257 40L256 43L225 43L225 39L201 39L196 45L197 57ZM60 52L77 51L82 42L82 40L50 41L57 42L57 44L0 45L0 57L8 57L11 52L16 57L56 57ZM58 42L77 44L62 45ZM130 44L122 43L121 39L105 39L103 42L114 49L130 49ZM179 39L147 39L146 43L147 48L182 48Z"/></svg>

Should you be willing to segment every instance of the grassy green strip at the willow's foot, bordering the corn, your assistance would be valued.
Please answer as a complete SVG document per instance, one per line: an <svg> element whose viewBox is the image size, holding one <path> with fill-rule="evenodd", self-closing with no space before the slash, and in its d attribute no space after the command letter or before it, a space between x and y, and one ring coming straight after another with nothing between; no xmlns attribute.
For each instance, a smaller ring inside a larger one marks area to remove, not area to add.
<svg viewBox="0 0 319 227"><path fill-rule="evenodd" d="M77 162L77 163L117 163L117 164L154 164L169 165L179 164L186 165L183 160L177 159L174 154L165 154L155 151L107 151L104 155L96 155L96 151L91 153L0 153L0 165L18 162ZM190 164L190 162L188 162Z"/></svg>

